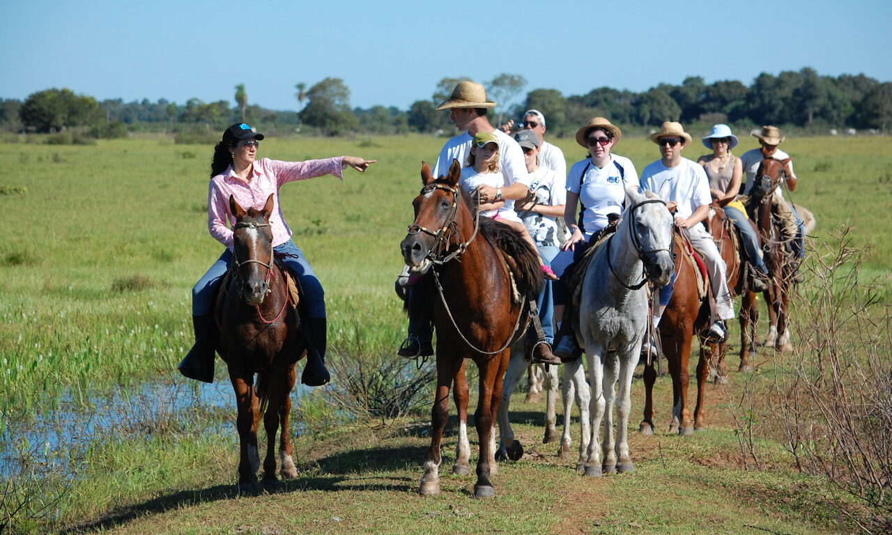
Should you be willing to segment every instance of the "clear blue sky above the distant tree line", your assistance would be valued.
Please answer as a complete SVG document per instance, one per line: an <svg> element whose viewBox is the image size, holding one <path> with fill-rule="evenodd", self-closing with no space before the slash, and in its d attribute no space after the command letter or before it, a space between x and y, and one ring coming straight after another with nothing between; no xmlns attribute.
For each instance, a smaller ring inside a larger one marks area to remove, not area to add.
<svg viewBox="0 0 892 535"><path fill-rule="evenodd" d="M130 3L0 0L0 97L69 87L99 100L249 102L343 78L351 104L406 109L443 77L521 74L526 90L643 91L812 67L892 80L892 2ZM134 6L134 7L131 7Z"/></svg>

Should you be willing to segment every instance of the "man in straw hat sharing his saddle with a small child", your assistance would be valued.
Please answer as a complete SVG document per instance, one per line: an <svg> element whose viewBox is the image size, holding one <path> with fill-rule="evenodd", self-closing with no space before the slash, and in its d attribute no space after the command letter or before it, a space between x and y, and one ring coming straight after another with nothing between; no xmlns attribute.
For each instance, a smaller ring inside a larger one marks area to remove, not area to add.
<svg viewBox="0 0 892 535"><path fill-rule="evenodd" d="M458 161L461 166L467 165L474 136L481 132L490 133L496 137L499 144L499 170L507 185L503 187L481 185L477 191L480 193L481 203L502 201L508 207L509 204L513 205L514 200L529 195L531 178L527 173L524 152L520 145L514 138L493 127L486 117L487 110L495 105L496 103L486 99L486 90L476 82L466 80L455 86L449 100L440 104L437 110L449 110L450 121L456 128L464 131L443 145L440 157L434 166L433 176L440 177L446 174L452 161ZM411 277L405 280L409 282ZM407 293L411 299L411 290ZM536 331L541 333L541 326L538 326ZM407 358L429 357L434 354L432 338L433 325L430 318L410 314L409 336L402 342L398 354ZM533 348L533 360L560 364L560 360L551 353L550 345L544 338L537 342Z"/></svg>

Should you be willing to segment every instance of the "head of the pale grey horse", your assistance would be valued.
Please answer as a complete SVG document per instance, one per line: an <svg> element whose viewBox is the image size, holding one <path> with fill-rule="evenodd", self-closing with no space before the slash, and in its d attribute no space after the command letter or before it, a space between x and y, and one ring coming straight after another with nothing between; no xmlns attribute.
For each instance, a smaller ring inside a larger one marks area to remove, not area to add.
<svg viewBox="0 0 892 535"><path fill-rule="evenodd" d="M632 187L627 187L625 191L632 201L632 206L626 210L626 224L638 257L644 263L644 272L651 283L665 286L675 271L672 258L673 217L664 201L668 191L660 194L638 193Z"/></svg>

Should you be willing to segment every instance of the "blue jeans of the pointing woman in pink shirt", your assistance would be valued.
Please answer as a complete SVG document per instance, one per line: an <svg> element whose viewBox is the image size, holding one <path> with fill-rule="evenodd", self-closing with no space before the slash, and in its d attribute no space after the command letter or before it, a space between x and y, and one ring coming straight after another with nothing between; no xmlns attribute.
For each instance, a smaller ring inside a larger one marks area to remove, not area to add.
<svg viewBox="0 0 892 535"><path fill-rule="evenodd" d="M291 270L294 276L297 276L297 280L301 284L301 299L307 307L310 317L326 317L325 291L322 289L322 284L319 283L316 272L310 268L307 257L303 256L303 252L297 248L297 245L294 245L292 240L277 245L273 251L277 252L285 266ZM211 314L213 299L217 294L220 280L226 275L230 264L232 264L232 251L227 249L211 265L208 272L195 283L192 288L193 316Z"/></svg>

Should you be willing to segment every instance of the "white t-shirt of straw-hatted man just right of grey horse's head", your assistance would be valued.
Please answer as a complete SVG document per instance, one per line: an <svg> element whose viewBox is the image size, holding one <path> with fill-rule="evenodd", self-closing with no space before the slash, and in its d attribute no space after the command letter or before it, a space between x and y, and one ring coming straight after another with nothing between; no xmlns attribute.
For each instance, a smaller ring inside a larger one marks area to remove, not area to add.
<svg viewBox="0 0 892 535"><path fill-rule="evenodd" d="M673 168L667 168L662 160L657 160L641 173L640 191L659 193L665 183L669 184L669 195L664 201L678 204L677 216L690 218L698 206L713 202L709 194L709 179L703 166L696 161L682 158Z"/></svg>

